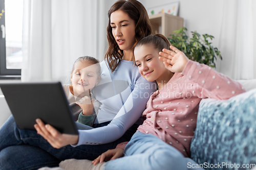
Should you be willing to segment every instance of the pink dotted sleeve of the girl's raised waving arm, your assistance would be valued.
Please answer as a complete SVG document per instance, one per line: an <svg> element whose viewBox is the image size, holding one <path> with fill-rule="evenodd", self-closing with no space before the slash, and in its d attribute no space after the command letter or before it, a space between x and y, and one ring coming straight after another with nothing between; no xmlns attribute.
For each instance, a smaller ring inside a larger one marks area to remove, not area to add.
<svg viewBox="0 0 256 170"><path fill-rule="evenodd" d="M215 71L205 64L189 60L182 74L198 88L198 97L227 100L232 96L245 92L244 87L237 81Z"/></svg>

